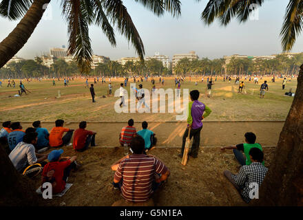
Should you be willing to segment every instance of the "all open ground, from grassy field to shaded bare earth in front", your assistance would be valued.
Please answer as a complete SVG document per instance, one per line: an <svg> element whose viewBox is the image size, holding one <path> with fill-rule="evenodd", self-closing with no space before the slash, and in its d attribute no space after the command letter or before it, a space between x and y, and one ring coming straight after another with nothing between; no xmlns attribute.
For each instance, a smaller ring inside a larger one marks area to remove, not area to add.
<svg viewBox="0 0 303 220"><path fill-rule="evenodd" d="M155 80L156 88L162 88L159 80ZM4 82L3 87L0 87L0 121L23 121L23 128L26 129L31 126L30 122L41 120L42 126L50 130L56 119L65 120L65 126L71 129L77 129L79 121L87 120L90 121L87 129L97 132L96 148L77 153L71 147L63 147L63 156L77 155L77 161L83 166L71 174L69 182L73 186L64 197L48 201L41 199L41 204L111 206L114 201L121 199L120 193L112 188L114 172L110 165L123 156L118 135L127 120L134 118L137 131L140 130L140 121L149 122L149 129L158 137L157 147L150 153L161 159L171 170L169 181L154 196L156 206L246 206L236 189L222 175L227 169L238 173L238 162L232 151L220 151L220 146L242 143L244 133L252 131L257 135L257 142L265 146L265 166L269 166L284 125L284 122L271 121L285 120L293 98L284 96L284 93L289 89L294 92L297 82L292 80L287 83L283 91L282 80L271 83L270 78L267 78L265 80L269 82L269 91L264 99L260 99L258 91L264 80L260 80L259 85L245 82L247 94L238 94L234 80L227 83L219 78L213 85L211 98L205 95L206 82L201 83L199 78L198 85L195 86L194 79L191 82L189 78L187 80L182 83L181 89L198 89L201 93L199 100L207 104L212 113L203 125L199 156L197 159L190 157L186 167L180 164L177 155L180 153L187 123L173 122L176 113L116 113L114 103L120 98L101 98L107 96L108 82L95 85L98 97L96 103L92 103L90 91L85 88L85 80L74 80L68 87L63 86L62 80L56 81L56 87L52 86L52 80L24 82L32 93L22 97L12 97L17 94L17 88L7 88L7 83ZM121 82L122 79L112 82L113 92ZM93 83L92 78L90 83ZM151 89L151 83L144 82L143 87ZM165 78L163 88L174 89L174 79ZM61 91L61 98L55 98L58 90ZM109 146L110 148L105 148ZM35 179L36 188L40 181L40 177Z"/></svg>

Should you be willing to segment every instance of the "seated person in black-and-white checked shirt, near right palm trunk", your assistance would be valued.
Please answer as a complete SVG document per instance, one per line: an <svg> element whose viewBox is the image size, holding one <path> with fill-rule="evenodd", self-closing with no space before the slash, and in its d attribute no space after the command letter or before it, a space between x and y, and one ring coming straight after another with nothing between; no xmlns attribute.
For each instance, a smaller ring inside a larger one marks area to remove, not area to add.
<svg viewBox="0 0 303 220"><path fill-rule="evenodd" d="M252 199L250 197L251 187L254 186L255 190L258 190L268 170L262 165L264 154L259 148L251 148L249 157L251 164L242 166L238 175L233 175L229 170L224 171L225 177L231 181L233 186L240 192L242 199L247 203Z"/></svg>

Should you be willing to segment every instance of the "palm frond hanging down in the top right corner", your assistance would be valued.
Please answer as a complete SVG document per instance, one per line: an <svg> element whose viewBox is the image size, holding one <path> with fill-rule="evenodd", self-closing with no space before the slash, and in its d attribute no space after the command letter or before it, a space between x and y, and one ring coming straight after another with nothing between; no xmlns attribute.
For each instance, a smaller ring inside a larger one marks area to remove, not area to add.
<svg viewBox="0 0 303 220"><path fill-rule="evenodd" d="M290 51L295 43L295 39L302 31L303 26L303 1L290 0L286 8L284 23L280 36L282 36L282 49L284 52Z"/></svg>

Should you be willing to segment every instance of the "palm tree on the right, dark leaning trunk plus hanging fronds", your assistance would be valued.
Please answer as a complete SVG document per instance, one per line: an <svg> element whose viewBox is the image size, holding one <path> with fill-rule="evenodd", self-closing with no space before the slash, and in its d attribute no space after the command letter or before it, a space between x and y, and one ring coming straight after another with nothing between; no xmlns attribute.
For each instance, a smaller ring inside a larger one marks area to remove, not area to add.
<svg viewBox="0 0 303 220"><path fill-rule="evenodd" d="M198 0L200 1L200 0ZM237 17L240 23L247 21L253 10L262 6L264 0L209 0L201 19L210 25L218 19L227 25ZM290 51L303 28L303 1L289 0L280 35L283 51ZM303 205L303 65L297 78L295 98L280 133L278 146L260 188L261 205Z"/></svg>

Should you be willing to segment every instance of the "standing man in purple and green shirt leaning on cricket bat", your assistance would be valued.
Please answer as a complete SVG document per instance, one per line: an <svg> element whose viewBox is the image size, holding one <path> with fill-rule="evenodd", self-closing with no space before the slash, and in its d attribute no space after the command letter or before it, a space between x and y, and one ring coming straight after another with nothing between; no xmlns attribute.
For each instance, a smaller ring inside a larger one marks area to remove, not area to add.
<svg viewBox="0 0 303 220"><path fill-rule="evenodd" d="M185 133L183 135L182 140L182 149L179 156L182 158L185 148L185 141L188 136L188 132L190 129L190 136L189 138L194 136L193 144L191 145L191 151L189 151L189 155L191 157L198 157L199 152L199 145L200 145L200 132L202 130L202 120L206 118L210 113L211 109L207 107L204 103L199 102L198 98L200 96L200 93L198 90L193 90L189 93L191 97L191 102L189 102L189 113L187 118L187 129L185 130Z"/></svg>

